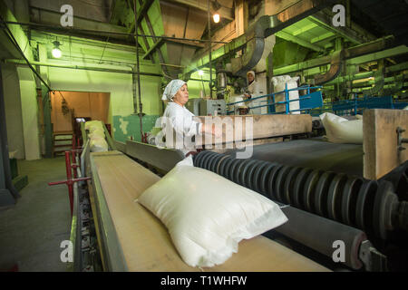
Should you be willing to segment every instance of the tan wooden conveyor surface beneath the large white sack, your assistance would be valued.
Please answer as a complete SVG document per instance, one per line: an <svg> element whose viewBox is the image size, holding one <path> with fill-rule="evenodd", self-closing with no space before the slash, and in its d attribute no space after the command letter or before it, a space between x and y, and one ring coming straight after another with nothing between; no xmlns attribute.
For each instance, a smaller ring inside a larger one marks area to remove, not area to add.
<svg viewBox="0 0 408 290"><path fill-rule="evenodd" d="M114 267L129 271L199 271L185 264L166 227L149 210L134 202L160 178L119 151L91 153L95 198L104 204L101 232L112 247L107 256ZM112 226L112 227L108 227ZM107 229L109 231L107 231ZM120 254L119 256L116 256ZM327 271L324 266L267 237L239 243L238 253L205 271Z"/></svg>

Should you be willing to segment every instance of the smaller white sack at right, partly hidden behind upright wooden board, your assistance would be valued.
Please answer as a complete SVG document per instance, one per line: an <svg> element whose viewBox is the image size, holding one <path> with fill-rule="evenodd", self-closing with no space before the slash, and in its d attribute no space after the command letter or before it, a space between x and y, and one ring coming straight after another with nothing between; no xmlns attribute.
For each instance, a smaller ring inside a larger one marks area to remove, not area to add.
<svg viewBox="0 0 408 290"><path fill-rule="evenodd" d="M331 112L320 115L328 141L333 143L363 144L363 119L348 121Z"/></svg>

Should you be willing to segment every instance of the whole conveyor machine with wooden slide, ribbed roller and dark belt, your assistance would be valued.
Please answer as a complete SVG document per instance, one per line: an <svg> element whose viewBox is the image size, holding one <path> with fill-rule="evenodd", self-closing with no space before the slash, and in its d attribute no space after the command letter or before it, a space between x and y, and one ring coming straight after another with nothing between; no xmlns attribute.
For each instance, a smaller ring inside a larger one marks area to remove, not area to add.
<svg viewBox="0 0 408 290"><path fill-rule="evenodd" d="M370 121L370 114L379 122L382 114L388 114L384 118L392 126L402 126L408 117L404 111L368 110L364 112L364 119ZM231 117L221 116L221 120L223 118ZM378 136L384 126L365 133L367 140L363 145L307 138L313 130L313 119L305 114L256 116L253 127L249 158L238 158L238 152L247 150L245 147L209 149L209 140L206 140L204 150L193 152L194 165L272 199L281 206L288 221L263 237L251 239L242 246L240 243L240 248L252 250L238 252L233 267L217 266L208 270L248 271L248 265L239 262L245 260L246 255L253 255L250 269L257 271L407 269L408 252L404 245L408 241L408 161L405 155L398 153L402 150L390 147L389 150L399 156L398 165L380 178L367 178L366 166L371 164L367 158L372 153L367 150L372 139L370 134ZM134 140L126 143L108 140L110 150L107 152L92 153L85 143L81 160L77 160L83 164L83 173L78 172L78 176L92 177L92 181L87 181L94 220L91 240L98 242L102 268L108 271L194 270L182 263L171 246L166 228L132 201L185 155L180 150L162 149ZM383 145L376 146L385 154L387 149L382 148ZM381 171L381 164L370 165L373 166ZM79 201L79 197L86 196L82 191L76 189L74 199L78 201L73 207L74 214L78 208L84 208L83 201ZM81 218L75 221L82 222ZM81 236L78 227L81 226L73 225ZM143 254L145 250L138 250L144 247L150 247L154 253L150 255L154 257L147 257ZM277 263L283 259L277 254L277 247L287 260L297 261L296 266ZM342 247L343 255L335 256L337 247ZM267 258L271 255L278 257ZM177 262L169 263L163 256ZM132 262L136 260L138 263Z"/></svg>

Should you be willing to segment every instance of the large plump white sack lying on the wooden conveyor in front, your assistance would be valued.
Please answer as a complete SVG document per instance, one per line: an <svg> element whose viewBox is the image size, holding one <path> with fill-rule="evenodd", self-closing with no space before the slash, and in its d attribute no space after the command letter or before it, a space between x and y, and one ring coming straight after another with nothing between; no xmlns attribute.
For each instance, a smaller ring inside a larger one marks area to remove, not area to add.
<svg viewBox="0 0 408 290"><path fill-rule="evenodd" d="M215 266L238 242L287 221L276 203L206 169L180 161L138 201L164 223L189 266Z"/></svg>

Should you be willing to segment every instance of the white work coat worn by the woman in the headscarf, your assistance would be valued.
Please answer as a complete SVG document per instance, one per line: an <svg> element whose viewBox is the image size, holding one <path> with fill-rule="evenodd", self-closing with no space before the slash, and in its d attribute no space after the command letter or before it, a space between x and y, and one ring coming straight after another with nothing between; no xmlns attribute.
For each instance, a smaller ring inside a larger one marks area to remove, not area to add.
<svg viewBox="0 0 408 290"><path fill-rule="evenodd" d="M187 137L191 139L194 135L201 134L202 123L193 121L194 114L178 103L169 102L163 113L163 117L161 128L164 129L166 123L170 123L177 138L184 139ZM182 150L184 153L188 153L191 150L191 148L180 148L180 146L176 146L176 148Z"/></svg>

